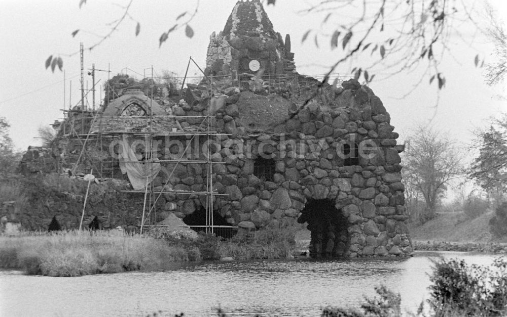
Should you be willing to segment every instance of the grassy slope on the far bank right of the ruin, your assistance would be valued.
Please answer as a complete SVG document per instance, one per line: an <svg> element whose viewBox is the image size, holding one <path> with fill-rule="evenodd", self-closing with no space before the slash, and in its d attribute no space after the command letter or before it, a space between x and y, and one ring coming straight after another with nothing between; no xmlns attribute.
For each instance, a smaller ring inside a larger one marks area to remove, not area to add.
<svg viewBox="0 0 507 317"><path fill-rule="evenodd" d="M410 236L414 241L505 242L492 240L488 222L493 214L489 211L472 220L464 220L463 213L438 214L423 225L411 225Z"/></svg>

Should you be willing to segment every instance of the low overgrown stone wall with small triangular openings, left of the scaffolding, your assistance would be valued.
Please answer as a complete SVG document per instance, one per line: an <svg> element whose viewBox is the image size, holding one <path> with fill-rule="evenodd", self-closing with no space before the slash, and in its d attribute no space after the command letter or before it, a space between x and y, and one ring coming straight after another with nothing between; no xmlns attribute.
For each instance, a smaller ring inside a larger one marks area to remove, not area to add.
<svg viewBox="0 0 507 317"><path fill-rule="evenodd" d="M51 219L56 216L63 230L77 229L87 185L88 182L83 179L55 174L21 178L17 186L22 198L16 201L14 210L0 209L0 218L21 223L23 230L47 231ZM83 220L85 228L97 216L103 229L122 226L135 230L142 211L143 195L120 192L126 188L126 182L117 179L92 183Z"/></svg>

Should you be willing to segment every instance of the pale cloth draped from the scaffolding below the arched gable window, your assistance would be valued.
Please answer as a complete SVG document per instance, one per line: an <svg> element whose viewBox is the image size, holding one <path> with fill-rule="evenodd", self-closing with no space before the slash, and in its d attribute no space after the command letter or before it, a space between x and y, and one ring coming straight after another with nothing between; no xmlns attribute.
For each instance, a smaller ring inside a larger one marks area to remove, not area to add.
<svg viewBox="0 0 507 317"><path fill-rule="evenodd" d="M145 189L160 172L160 163L158 162L139 162L125 134L120 140L120 152L120 170L123 174L127 173L134 190Z"/></svg>

